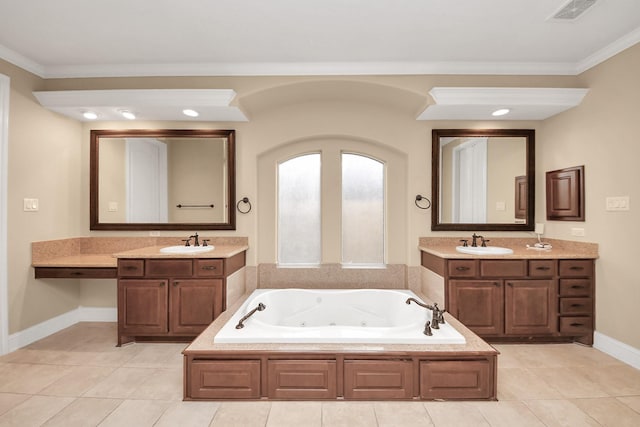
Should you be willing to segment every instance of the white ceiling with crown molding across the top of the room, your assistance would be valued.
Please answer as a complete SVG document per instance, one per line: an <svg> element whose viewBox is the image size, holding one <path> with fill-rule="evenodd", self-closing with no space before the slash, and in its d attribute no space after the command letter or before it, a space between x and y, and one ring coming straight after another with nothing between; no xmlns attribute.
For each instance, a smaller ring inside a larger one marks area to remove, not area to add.
<svg viewBox="0 0 640 427"><path fill-rule="evenodd" d="M0 58L44 78L575 75L640 41L640 1L550 19L567 1L0 0Z"/></svg>

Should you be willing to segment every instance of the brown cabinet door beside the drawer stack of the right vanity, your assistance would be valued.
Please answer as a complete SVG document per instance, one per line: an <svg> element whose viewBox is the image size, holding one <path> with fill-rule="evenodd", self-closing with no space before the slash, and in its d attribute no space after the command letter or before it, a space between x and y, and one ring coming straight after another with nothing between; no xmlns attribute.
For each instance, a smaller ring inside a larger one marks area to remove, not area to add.
<svg viewBox="0 0 640 427"><path fill-rule="evenodd" d="M552 334L557 330L554 280L507 280L505 333Z"/></svg>

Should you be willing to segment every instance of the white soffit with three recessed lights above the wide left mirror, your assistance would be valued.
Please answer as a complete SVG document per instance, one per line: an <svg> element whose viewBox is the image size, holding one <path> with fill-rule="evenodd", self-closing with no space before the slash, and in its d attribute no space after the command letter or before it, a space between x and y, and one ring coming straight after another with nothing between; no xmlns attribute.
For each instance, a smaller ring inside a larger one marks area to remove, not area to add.
<svg viewBox="0 0 640 427"><path fill-rule="evenodd" d="M40 104L79 121L93 111L93 120L126 120L129 111L135 120L246 122L245 114L230 105L236 96L232 89L114 89L33 92ZM189 117L183 110L198 112Z"/></svg>

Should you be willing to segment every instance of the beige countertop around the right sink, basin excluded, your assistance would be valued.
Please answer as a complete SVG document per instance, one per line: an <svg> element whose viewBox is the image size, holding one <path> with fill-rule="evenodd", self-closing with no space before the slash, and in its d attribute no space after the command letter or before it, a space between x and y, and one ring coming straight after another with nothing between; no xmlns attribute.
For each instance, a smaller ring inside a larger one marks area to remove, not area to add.
<svg viewBox="0 0 640 427"><path fill-rule="evenodd" d="M469 237L422 237L418 249L440 258L484 258L484 259L596 259L598 258L598 245L596 243L573 242L568 240L544 239L553 247L551 249L538 250L527 248L533 246L536 239L522 238L491 238L488 246L501 246L513 250L509 255L469 255L456 251L456 246L461 245L460 239Z"/></svg>

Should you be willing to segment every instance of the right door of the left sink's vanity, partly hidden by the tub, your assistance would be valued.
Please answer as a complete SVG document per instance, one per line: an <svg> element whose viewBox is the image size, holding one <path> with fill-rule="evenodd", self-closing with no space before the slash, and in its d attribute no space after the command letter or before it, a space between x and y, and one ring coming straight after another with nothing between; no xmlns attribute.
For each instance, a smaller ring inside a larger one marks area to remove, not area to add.
<svg viewBox="0 0 640 427"><path fill-rule="evenodd" d="M197 335L222 312L222 279L171 282L170 322L174 334Z"/></svg>

